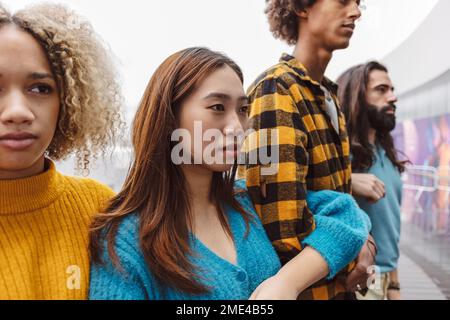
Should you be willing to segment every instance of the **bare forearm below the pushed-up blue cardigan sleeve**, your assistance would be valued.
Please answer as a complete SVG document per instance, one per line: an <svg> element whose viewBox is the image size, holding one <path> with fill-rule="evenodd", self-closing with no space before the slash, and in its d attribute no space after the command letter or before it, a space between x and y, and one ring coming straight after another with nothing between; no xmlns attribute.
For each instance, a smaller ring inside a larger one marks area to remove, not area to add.
<svg viewBox="0 0 450 320"><path fill-rule="evenodd" d="M294 286L300 294L329 273L328 264L319 252L306 247L278 272L277 277Z"/></svg>

